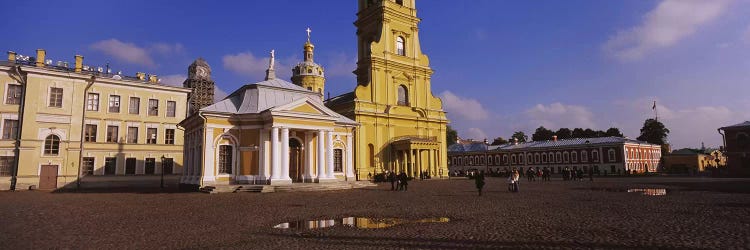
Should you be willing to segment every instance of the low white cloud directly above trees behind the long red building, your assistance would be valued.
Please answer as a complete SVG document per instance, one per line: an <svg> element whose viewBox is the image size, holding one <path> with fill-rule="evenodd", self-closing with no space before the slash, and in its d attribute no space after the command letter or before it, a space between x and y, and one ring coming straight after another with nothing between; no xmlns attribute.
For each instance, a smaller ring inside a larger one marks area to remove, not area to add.
<svg viewBox="0 0 750 250"><path fill-rule="evenodd" d="M565 105L559 102L550 105L537 104L524 112L531 128L544 126L548 129L596 128L594 114L586 107Z"/></svg>

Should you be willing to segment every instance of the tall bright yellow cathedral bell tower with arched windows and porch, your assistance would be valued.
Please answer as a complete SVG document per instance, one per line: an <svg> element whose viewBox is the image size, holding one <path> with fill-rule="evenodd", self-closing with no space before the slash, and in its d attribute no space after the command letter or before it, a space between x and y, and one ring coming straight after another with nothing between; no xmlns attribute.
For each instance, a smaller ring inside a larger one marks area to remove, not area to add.
<svg viewBox="0 0 750 250"><path fill-rule="evenodd" d="M357 86L326 105L361 125L354 147L361 179L389 170L448 175L448 120L432 94L420 21L415 0L359 0Z"/></svg>

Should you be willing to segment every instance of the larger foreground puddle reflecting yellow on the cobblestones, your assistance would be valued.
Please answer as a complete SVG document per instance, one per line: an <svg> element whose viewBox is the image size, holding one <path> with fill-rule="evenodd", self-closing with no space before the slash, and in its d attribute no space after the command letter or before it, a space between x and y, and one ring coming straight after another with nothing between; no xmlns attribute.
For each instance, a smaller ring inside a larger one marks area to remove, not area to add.
<svg viewBox="0 0 750 250"><path fill-rule="evenodd" d="M387 228L392 227L399 224L405 224L405 223L444 223L449 222L450 219L447 217L437 217L437 218L425 218L425 219L418 219L418 220L406 220L406 219L396 219L396 218L365 218L365 217L346 217L343 219L338 220L309 220L309 221L294 221L294 222L286 222L281 223L273 228L279 228L279 229L316 229L316 228L326 228L326 227L333 227L337 225L351 227L351 228L359 228L359 229L377 229L377 228Z"/></svg>

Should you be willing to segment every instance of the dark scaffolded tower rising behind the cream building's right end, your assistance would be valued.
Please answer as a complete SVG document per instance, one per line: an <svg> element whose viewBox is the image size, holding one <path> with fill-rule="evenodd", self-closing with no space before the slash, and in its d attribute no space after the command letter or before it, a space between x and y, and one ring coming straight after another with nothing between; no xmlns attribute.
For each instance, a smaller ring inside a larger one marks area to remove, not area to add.
<svg viewBox="0 0 750 250"><path fill-rule="evenodd" d="M188 67L188 78L182 86L193 90L188 96L190 114L214 103L214 83L211 66L203 58L196 59Z"/></svg>

